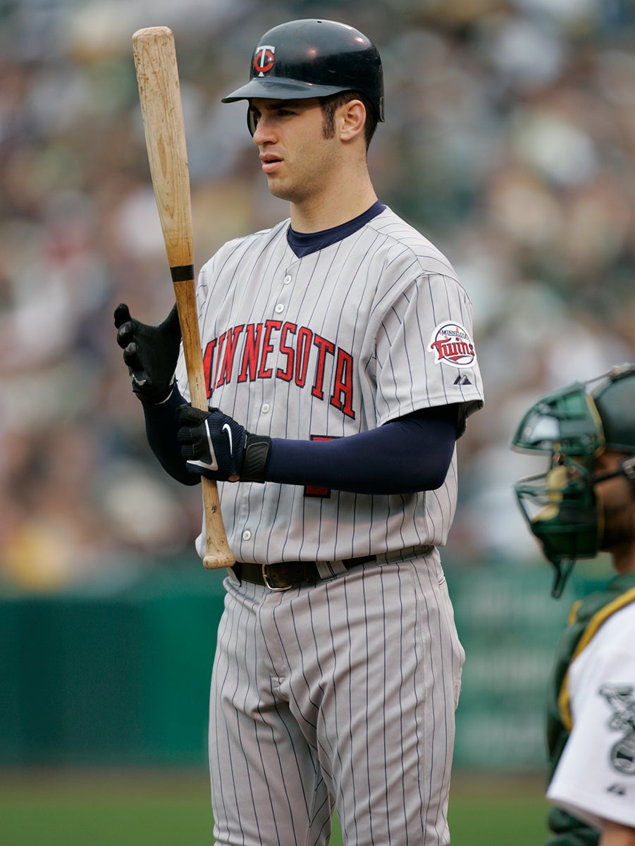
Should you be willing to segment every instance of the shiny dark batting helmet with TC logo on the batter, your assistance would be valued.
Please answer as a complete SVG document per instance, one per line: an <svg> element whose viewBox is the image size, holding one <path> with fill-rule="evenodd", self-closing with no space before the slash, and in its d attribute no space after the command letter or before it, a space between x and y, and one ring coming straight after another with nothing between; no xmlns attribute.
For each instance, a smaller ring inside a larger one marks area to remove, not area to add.
<svg viewBox="0 0 635 846"><path fill-rule="evenodd" d="M359 30L333 20L292 20L260 36L249 82L222 102L265 97L306 100L339 91L361 91L384 119L380 54Z"/></svg>

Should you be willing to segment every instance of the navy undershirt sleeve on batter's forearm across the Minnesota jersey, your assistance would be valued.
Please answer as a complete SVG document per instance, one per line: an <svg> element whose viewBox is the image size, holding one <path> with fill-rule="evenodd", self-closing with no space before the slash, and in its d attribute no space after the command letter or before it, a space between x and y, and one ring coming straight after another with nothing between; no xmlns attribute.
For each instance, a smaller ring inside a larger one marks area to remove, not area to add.
<svg viewBox="0 0 635 846"><path fill-rule="evenodd" d="M423 409L331 441L273 438L266 481L370 494L434 491L457 439L456 405Z"/></svg>

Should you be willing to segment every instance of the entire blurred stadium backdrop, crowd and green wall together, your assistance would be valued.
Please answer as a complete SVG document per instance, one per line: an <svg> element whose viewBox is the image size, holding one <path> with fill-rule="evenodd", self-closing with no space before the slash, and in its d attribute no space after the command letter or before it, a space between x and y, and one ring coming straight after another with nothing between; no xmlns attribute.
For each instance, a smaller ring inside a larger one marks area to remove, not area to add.
<svg viewBox="0 0 635 846"><path fill-rule="evenodd" d="M194 557L199 494L151 458L112 326L121 300L152 322L173 296L130 39L148 25L175 33L200 267L286 214L244 107L219 99L246 77L261 32L314 16L380 48L375 188L474 300L486 408L459 444L444 555L468 652L457 778L478 793L529 777L541 794L552 645L569 603L608 569L578 567L550 599L512 494L541 468L509 442L540 393L635 358L635 4L5 0L0 805L36 773L39 795L60 774L104 769L205 782L222 577Z"/></svg>

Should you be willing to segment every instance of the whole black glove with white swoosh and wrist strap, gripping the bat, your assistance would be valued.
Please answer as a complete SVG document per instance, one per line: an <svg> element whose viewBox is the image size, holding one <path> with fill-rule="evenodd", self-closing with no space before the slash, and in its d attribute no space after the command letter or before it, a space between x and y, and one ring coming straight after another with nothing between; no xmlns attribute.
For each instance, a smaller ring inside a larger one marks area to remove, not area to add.
<svg viewBox="0 0 635 846"><path fill-rule="evenodd" d="M178 442L188 470L216 481L265 481L271 438L250 435L220 409L178 407Z"/></svg>

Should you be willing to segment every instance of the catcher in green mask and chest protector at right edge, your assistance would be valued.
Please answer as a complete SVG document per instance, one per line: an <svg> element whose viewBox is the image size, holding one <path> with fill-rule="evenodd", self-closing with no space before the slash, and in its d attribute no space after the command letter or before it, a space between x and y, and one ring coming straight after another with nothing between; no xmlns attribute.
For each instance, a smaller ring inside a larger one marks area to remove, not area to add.
<svg viewBox="0 0 635 846"><path fill-rule="evenodd" d="M549 846L635 846L635 365L539 400L514 448L549 456L517 483L556 569L610 552L616 575L576 602L549 689Z"/></svg>

